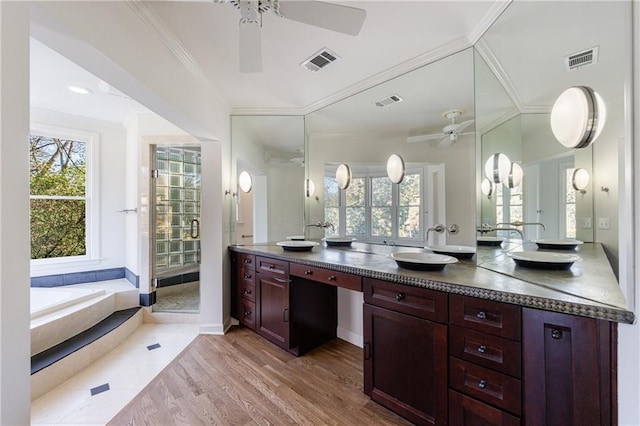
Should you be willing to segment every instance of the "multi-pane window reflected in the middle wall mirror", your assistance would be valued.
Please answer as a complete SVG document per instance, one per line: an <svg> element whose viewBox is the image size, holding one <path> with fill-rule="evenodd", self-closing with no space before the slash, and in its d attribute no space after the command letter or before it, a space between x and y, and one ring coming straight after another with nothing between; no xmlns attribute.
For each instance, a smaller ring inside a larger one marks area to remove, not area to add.
<svg viewBox="0 0 640 426"><path fill-rule="evenodd" d="M422 171L407 172L399 185L386 175L356 176L340 191L333 176L324 180L324 217L340 235L360 241L422 242Z"/></svg>

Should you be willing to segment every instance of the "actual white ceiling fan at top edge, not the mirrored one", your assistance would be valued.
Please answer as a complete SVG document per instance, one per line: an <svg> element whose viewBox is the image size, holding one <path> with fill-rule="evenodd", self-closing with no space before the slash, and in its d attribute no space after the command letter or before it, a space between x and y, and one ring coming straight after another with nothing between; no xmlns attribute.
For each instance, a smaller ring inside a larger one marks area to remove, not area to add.
<svg viewBox="0 0 640 426"><path fill-rule="evenodd" d="M272 11L281 18L358 35L367 12L350 6L313 0L214 0L240 10L240 72L262 71L262 14Z"/></svg>

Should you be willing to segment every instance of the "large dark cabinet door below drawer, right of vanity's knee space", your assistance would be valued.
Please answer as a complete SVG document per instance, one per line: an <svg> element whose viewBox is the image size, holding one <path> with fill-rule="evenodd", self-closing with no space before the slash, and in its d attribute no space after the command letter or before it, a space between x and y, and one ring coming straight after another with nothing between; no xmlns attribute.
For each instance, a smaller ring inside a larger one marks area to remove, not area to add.
<svg viewBox="0 0 640 426"><path fill-rule="evenodd" d="M416 424L447 424L447 326L364 305L364 386Z"/></svg>

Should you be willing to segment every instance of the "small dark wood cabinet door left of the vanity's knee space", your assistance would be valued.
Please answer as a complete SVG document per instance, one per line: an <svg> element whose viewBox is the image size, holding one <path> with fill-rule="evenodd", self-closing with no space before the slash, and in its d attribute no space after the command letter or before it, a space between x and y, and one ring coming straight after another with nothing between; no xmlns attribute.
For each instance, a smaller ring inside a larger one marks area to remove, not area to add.
<svg viewBox="0 0 640 426"><path fill-rule="evenodd" d="M289 349L289 279L256 274L256 330Z"/></svg>

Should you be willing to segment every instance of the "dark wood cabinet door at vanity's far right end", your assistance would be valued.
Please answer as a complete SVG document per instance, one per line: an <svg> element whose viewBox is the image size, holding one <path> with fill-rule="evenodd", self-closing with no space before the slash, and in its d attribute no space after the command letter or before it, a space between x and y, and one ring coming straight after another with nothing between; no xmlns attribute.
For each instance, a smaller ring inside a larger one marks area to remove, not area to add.
<svg viewBox="0 0 640 426"><path fill-rule="evenodd" d="M615 324L535 309L522 319L526 424L614 424Z"/></svg>

